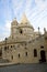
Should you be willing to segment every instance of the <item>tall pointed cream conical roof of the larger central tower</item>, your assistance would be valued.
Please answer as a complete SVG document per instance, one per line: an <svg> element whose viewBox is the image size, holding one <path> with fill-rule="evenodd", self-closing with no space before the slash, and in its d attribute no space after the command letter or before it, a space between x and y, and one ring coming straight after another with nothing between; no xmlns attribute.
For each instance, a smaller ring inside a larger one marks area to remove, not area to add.
<svg viewBox="0 0 47 72"><path fill-rule="evenodd" d="M21 22L20 22L19 25L20 25L20 27L30 27L30 28L34 29L33 25L32 25L32 24L30 23L30 21L27 20L25 13L23 14L23 17L22 17Z"/></svg>

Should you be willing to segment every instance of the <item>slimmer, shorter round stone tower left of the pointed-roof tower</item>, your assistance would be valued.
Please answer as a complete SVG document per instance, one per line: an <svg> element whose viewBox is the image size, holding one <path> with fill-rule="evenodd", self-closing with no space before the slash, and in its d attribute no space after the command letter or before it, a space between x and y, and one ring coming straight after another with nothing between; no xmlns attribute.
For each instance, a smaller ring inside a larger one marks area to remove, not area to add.
<svg viewBox="0 0 47 72"><path fill-rule="evenodd" d="M15 35L17 34L17 21L16 19L14 19L12 22L11 22L11 37L12 39L15 38Z"/></svg>

